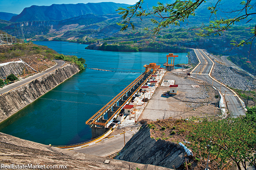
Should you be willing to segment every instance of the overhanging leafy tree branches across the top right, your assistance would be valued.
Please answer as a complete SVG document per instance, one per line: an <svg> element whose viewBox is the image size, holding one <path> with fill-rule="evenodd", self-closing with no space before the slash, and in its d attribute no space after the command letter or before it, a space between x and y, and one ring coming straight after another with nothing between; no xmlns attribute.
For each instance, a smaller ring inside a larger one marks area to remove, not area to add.
<svg viewBox="0 0 256 170"><path fill-rule="evenodd" d="M248 23L253 22L253 17L256 13L254 11L254 4L251 0L246 0L241 3L237 3L239 7L233 10L223 10L219 8L223 0L217 0L216 3L211 4L209 0L176 0L173 4L163 4L158 2L158 6L153 6L152 10L143 9L142 4L144 0L140 0L134 6L128 7L127 9L119 8L117 11L121 11L118 14L122 15L122 21L118 23L122 26L121 30L124 31L128 28L129 24L135 29L135 26L131 22L131 19L135 16L142 17L154 16L151 21L157 26L152 30L153 33L157 34L163 28L170 25L179 26L180 22L188 21L189 16L195 16L196 10L201 7L204 3L208 2L208 10L210 13L209 25L202 24L203 30L198 33L199 36L209 36L211 34L221 35L221 32L228 30L231 26L240 21L248 19ZM224 13L222 16L217 16L217 11ZM232 41L231 44L234 46L243 46L244 44L251 44L256 36L256 25L253 23L254 29L251 30L251 37L240 42ZM148 30L146 28L146 30Z"/></svg>

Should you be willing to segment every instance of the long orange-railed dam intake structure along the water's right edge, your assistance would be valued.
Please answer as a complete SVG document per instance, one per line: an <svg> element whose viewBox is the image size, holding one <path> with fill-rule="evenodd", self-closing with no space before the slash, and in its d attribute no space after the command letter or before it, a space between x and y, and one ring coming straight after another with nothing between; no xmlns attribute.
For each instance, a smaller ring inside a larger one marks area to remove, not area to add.
<svg viewBox="0 0 256 170"><path fill-rule="evenodd" d="M156 72L160 65L150 63L149 65L145 64L144 67L145 72L87 120L86 124L92 128L92 138L104 134L115 126L115 124L111 124L111 122L122 113L121 111L123 110L123 107L131 102L133 96L148 80L150 80L151 76ZM104 119L105 114L108 114L108 119Z"/></svg>

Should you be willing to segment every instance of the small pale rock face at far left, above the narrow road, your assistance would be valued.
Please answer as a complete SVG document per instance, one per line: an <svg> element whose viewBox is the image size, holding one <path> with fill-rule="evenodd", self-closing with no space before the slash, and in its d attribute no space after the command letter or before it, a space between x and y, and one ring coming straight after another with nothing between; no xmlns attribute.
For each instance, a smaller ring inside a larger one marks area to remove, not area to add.
<svg viewBox="0 0 256 170"><path fill-rule="evenodd" d="M24 63L10 63L4 66L0 66L0 79L6 78L10 74L22 75L24 70Z"/></svg>

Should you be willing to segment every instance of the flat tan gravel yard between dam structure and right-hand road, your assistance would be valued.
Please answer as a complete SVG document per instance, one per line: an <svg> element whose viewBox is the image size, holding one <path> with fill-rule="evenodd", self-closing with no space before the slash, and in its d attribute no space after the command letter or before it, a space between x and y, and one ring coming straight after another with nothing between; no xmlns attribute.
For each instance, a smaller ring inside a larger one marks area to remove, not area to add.
<svg viewBox="0 0 256 170"><path fill-rule="evenodd" d="M195 79L178 76L172 72L166 72L164 80L175 80L178 84L178 93L173 97L166 98L162 94L167 92L169 87L158 86L152 99L139 117L157 120L168 117L183 118L190 116L216 115L220 111L215 107L218 100L214 98L216 91L204 83ZM191 85L199 85L193 88ZM199 102L199 103L195 103ZM207 104L211 103L211 105ZM218 105L216 105L218 106Z"/></svg>

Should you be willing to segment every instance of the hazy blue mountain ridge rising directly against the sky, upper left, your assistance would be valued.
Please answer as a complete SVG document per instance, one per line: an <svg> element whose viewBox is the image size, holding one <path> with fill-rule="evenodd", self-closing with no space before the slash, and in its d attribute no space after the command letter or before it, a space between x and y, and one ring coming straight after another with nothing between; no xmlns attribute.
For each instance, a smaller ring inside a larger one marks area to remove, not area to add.
<svg viewBox="0 0 256 170"><path fill-rule="evenodd" d="M130 5L112 2L88 3L88 4L53 4L51 6L31 6L25 8L19 15L13 16L10 21L46 21L63 20L86 14L110 14L117 13L119 7L126 8Z"/></svg>

